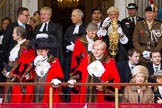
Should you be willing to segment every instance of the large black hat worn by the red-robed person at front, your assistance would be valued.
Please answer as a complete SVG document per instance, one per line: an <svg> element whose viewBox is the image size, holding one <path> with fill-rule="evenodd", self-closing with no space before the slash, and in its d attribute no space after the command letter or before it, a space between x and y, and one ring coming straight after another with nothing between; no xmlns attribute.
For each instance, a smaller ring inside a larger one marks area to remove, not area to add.
<svg viewBox="0 0 162 108"><path fill-rule="evenodd" d="M53 49L57 48L56 38L52 35L47 35L47 37L39 37L34 42L35 49Z"/></svg>

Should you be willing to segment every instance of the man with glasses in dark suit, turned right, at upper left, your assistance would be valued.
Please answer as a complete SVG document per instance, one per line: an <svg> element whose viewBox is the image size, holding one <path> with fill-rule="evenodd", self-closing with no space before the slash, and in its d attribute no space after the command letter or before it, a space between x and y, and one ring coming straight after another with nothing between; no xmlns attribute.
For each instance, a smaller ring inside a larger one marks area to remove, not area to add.
<svg viewBox="0 0 162 108"><path fill-rule="evenodd" d="M10 52L10 50L16 45L16 41L14 41L12 37L14 27L16 26L24 27L26 29L27 39L28 40L31 39L32 27L27 24L29 17L30 17L29 9L25 7L20 7L17 9L17 21L9 24L4 32L2 45L3 45L3 50L6 51L6 53Z"/></svg>

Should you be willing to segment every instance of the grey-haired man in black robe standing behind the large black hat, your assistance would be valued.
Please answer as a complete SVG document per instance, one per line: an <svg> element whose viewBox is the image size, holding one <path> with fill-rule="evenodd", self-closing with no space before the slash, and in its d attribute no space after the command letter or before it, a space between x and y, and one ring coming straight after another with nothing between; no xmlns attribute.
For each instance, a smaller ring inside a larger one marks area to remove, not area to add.
<svg viewBox="0 0 162 108"><path fill-rule="evenodd" d="M42 36L40 35L42 33L52 35L57 40L58 48L51 49L50 53L55 57L58 57L61 65L63 65L63 30L61 25L51 21L51 16L52 9L50 7L42 7L40 9L40 19L42 24L36 27L33 38L35 39Z"/></svg>

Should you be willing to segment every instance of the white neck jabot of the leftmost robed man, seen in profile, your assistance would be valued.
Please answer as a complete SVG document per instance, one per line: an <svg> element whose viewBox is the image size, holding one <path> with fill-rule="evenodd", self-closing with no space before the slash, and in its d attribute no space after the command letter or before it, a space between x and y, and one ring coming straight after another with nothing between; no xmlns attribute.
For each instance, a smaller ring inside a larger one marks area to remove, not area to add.
<svg viewBox="0 0 162 108"><path fill-rule="evenodd" d="M15 61L18 58L20 45L25 41L26 39L19 41L18 44L10 51L9 61Z"/></svg>

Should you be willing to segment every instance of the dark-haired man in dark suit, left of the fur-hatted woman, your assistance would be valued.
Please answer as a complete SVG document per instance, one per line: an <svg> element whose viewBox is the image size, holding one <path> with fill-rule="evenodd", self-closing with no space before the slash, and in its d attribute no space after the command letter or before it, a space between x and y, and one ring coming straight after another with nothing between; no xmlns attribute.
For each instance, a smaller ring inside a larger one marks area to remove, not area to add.
<svg viewBox="0 0 162 108"><path fill-rule="evenodd" d="M139 63L140 53L136 49L128 51L128 60L117 63L121 83L128 83L132 78L131 70ZM122 87L121 92L124 87Z"/></svg>

